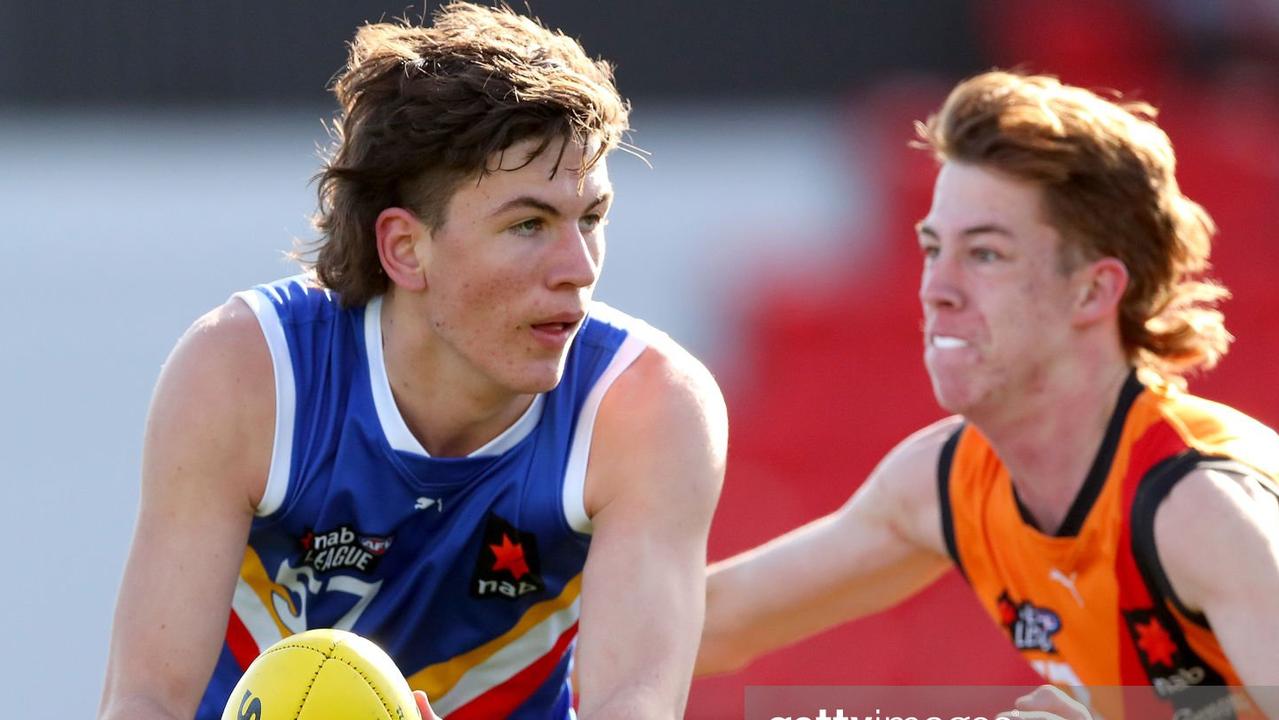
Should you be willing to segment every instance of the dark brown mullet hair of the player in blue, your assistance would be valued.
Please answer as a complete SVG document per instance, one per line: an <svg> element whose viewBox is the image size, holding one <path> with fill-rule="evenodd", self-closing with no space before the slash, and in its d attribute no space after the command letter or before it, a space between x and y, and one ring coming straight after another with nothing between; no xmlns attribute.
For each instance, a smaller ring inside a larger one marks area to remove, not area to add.
<svg viewBox="0 0 1279 720"><path fill-rule="evenodd" d="M316 175L320 237L293 253L344 306L386 292L375 234L382 210L404 207L439 229L454 191L530 138L541 145L523 164L553 145L560 156L568 142L590 148L582 175L614 147L629 148L629 106L613 68L505 5L451 3L428 27L366 24L349 45L333 86L334 143Z"/></svg>

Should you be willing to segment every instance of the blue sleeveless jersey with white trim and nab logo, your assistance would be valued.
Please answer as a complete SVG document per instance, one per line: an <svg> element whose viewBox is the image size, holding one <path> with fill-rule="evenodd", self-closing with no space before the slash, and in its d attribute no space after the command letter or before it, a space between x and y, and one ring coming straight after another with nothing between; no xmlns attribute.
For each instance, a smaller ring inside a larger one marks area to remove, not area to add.
<svg viewBox="0 0 1279 720"><path fill-rule="evenodd" d="M391 396L380 298L341 308L302 276L237 297L275 363L275 448L197 717L318 627L377 642L450 720L572 716L591 430L652 329L595 303L554 390L476 453L432 458Z"/></svg>

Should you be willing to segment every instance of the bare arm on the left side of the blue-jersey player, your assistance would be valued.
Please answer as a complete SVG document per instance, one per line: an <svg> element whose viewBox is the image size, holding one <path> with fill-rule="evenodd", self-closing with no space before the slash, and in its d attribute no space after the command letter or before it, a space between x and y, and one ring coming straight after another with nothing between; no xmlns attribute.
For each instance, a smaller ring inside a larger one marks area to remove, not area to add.
<svg viewBox="0 0 1279 720"><path fill-rule="evenodd" d="M197 321L165 363L147 418L104 720L194 715L266 482L274 398L266 343L239 301Z"/></svg>

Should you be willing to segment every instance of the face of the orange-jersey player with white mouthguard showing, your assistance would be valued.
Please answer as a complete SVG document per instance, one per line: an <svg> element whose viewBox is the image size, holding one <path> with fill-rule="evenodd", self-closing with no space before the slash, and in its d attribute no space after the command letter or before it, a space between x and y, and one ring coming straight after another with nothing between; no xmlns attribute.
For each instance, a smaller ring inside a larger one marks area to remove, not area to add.
<svg viewBox="0 0 1279 720"><path fill-rule="evenodd" d="M972 417L1040 390L1072 352L1074 297L1042 191L946 162L917 230L923 359L941 407Z"/></svg>

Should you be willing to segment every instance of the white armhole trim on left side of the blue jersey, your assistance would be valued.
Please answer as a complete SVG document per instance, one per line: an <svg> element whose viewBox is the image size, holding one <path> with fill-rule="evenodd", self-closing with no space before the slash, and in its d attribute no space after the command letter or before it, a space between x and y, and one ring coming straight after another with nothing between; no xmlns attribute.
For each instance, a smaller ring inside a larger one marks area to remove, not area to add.
<svg viewBox="0 0 1279 720"><path fill-rule="evenodd" d="M276 294L281 292L278 286L267 289ZM271 367L275 368L275 444L271 448L271 469L266 476L266 490L262 492L262 501L255 509L258 517L266 517L280 509L289 491L293 423L297 413L293 359L289 356L289 341L284 338L284 326L271 301L257 290L244 290L233 297L243 301L257 317L257 324L266 338L266 347L271 352Z"/></svg>

